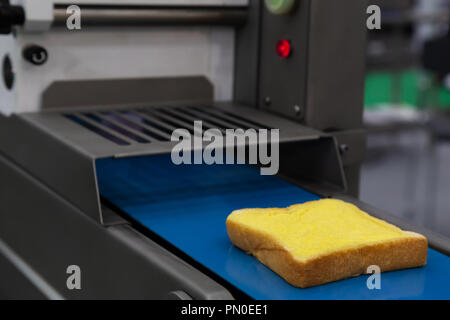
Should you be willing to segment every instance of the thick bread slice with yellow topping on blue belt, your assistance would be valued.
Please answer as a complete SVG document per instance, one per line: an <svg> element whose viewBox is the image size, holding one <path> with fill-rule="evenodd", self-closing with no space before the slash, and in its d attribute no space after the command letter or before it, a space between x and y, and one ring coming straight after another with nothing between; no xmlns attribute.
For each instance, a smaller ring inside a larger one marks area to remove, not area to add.
<svg viewBox="0 0 450 320"><path fill-rule="evenodd" d="M427 261L424 236L340 200L237 210L227 230L234 245L301 288L365 274L372 265L384 272Z"/></svg>

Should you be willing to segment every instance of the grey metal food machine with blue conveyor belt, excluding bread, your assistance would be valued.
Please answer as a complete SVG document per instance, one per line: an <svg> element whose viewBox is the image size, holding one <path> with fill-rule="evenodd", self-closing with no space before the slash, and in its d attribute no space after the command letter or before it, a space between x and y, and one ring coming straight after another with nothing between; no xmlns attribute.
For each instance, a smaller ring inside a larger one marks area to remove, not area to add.
<svg viewBox="0 0 450 320"><path fill-rule="evenodd" d="M431 267L385 298L445 295L449 241L356 200L364 1L0 3L0 297L374 297L288 287L227 241L233 208L320 197L428 236ZM280 129L279 176L173 166L171 133L196 120Z"/></svg>

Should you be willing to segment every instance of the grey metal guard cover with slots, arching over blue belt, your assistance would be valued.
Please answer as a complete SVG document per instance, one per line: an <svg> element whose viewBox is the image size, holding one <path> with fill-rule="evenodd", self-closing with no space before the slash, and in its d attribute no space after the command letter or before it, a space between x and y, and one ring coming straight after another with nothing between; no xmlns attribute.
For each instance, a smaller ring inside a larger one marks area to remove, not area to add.
<svg viewBox="0 0 450 320"><path fill-rule="evenodd" d="M308 176L334 190L346 188L333 137L232 103L62 108L0 116L0 152L103 223L95 161L168 154L177 144L171 141L173 130L192 131L196 120L203 121L205 130L280 129L282 173L294 179Z"/></svg>

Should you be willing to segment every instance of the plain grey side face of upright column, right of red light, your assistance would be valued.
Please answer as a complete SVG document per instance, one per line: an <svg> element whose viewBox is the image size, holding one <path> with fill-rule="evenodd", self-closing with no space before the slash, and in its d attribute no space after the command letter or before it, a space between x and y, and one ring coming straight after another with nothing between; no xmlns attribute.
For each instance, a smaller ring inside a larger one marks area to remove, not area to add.
<svg viewBox="0 0 450 320"><path fill-rule="evenodd" d="M311 1L306 124L362 126L367 2Z"/></svg>

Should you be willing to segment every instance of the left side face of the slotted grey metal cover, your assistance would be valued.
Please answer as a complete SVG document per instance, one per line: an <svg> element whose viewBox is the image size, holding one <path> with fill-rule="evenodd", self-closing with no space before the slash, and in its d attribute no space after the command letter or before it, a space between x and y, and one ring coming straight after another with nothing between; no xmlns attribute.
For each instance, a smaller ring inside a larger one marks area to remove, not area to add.
<svg viewBox="0 0 450 320"><path fill-rule="evenodd" d="M64 137L56 138L18 116L0 116L0 152L102 222L94 160L66 144Z"/></svg>

